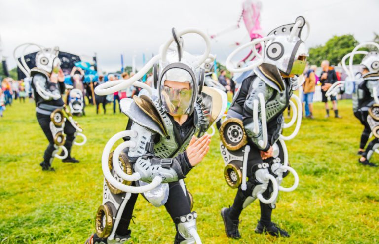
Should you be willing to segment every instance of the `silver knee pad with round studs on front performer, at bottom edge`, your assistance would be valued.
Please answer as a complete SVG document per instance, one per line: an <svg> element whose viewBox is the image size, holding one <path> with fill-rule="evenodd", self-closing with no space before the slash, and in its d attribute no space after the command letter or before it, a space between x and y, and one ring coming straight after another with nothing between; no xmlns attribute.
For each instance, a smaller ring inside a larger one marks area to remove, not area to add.
<svg viewBox="0 0 379 244"><path fill-rule="evenodd" d="M180 238L181 240L176 240L176 243L179 243L179 244L194 244L195 243L195 237L192 234L193 232L197 233L196 218L197 218L197 213L193 211L187 215L183 215L175 219L177 232L179 236L181 237Z"/></svg>

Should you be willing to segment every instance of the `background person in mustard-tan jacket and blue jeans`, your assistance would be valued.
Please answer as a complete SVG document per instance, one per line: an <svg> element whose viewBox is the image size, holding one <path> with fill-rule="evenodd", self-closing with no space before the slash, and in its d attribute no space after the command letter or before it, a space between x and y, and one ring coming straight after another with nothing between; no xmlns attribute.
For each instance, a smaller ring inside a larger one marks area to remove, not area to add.
<svg viewBox="0 0 379 244"><path fill-rule="evenodd" d="M316 65L310 66L305 73L305 82L303 84L303 106L305 103L306 118L313 119L313 95L316 88Z"/></svg>

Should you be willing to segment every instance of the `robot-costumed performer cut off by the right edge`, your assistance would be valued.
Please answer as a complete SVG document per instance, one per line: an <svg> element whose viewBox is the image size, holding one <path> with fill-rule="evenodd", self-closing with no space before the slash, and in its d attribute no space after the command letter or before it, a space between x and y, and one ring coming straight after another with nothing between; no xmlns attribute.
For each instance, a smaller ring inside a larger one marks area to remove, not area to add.
<svg viewBox="0 0 379 244"><path fill-rule="evenodd" d="M362 47L374 46L375 51L363 51L358 50ZM359 163L368 166L377 166L374 163L370 163L369 160L373 152L379 147L379 100L378 100L378 88L379 88L379 44L375 42L366 42L356 46L351 53L346 54L342 58L342 67L347 74L345 81L338 81L336 84L328 85L324 89L328 89L326 95L336 94L338 92L344 92L352 95L353 100L353 112L354 116L364 126L358 155L362 155L359 159ZM353 70L353 59L356 55L364 55L361 63L360 70L355 73ZM346 60L348 59L348 66ZM371 133L376 137L364 149L367 141L370 138Z"/></svg>

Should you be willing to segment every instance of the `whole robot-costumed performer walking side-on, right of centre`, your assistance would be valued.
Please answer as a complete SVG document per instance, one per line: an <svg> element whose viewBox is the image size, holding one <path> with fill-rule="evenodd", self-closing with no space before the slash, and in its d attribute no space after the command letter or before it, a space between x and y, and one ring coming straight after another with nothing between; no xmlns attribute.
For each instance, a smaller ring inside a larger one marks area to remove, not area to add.
<svg viewBox="0 0 379 244"><path fill-rule="evenodd" d="M296 171L289 166L285 140L298 133L302 106L293 90L299 88L295 75L301 75L306 66L308 50L301 38L303 27L309 24L303 17L295 23L275 28L266 37L242 45L227 58L231 72L242 73L242 84L236 93L227 119L220 128L221 153L225 163L224 177L232 188L238 188L234 203L221 210L228 237L241 238L238 225L242 210L259 199L261 218L256 233L288 237L289 234L271 221L278 191L293 191L299 183ZM256 59L242 68L234 68L232 57L246 47L261 43L262 53L253 48ZM296 101L290 100L293 98ZM291 106L293 118L284 122L283 111ZM281 135L283 128L296 128L290 136ZM295 177L292 187L280 186L291 172ZM248 180L246 178L248 177Z"/></svg>

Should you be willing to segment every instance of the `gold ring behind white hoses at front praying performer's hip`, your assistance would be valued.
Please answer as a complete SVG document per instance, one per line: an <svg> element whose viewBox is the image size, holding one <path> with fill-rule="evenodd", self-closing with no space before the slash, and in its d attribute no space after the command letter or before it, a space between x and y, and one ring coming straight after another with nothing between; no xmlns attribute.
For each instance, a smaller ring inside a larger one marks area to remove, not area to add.
<svg viewBox="0 0 379 244"><path fill-rule="evenodd" d="M111 171L113 177L118 180L120 183L124 184L124 185L128 185L130 186L132 184L132 181L127 181L127 180L124 180L122 179L121 177L119 177L113 170L113 163L112 163L112 157L113 157L113 152L111 152L109 154L109 157L108 157L108 168L109 170ZM123 171L124 173L126 174L129 174L129 175L132 175L133 174L133 168L132 168L132 164L129 162L129 159L128 159L128 156L125 154L125 153L121 153L120 156L118 157L118 160L119 162L121 163L121 166L123 168ZM120 194L122 193L123 191L121 191L120 189L118 188L115 188L113 185L111 185L108 180L105 180L106 183L107 183L107 186L109 188L109 190L113 193L113 194Z"/></svg>

